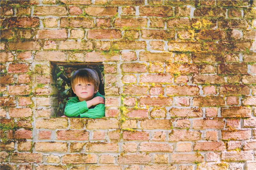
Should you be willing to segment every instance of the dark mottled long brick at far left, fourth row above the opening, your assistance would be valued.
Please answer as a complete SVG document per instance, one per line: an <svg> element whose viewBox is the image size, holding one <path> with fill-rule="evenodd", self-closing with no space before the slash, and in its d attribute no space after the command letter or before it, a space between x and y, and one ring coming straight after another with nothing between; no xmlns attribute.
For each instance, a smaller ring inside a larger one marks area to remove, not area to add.
<svg viewBox="0 0 256 170"><path fill-rule="evenodd" d="M7 27L15 28L15 27L38 27L40 25L39 18L37 17L10 17L5 18L4 23L6 23Z"/></svg>

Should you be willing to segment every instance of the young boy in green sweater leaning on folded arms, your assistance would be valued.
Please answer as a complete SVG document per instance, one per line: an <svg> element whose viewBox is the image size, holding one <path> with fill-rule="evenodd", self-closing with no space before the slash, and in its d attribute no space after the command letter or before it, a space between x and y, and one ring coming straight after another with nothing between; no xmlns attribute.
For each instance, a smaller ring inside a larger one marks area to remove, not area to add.
<svg viewBox="0 0 256 170"><path fill-rule="evenodd" d="M76 97L68 100L62 117L101 118L105 116L105 97L98 93L100 79L95 70L79 69L71 77Z"/></svg>

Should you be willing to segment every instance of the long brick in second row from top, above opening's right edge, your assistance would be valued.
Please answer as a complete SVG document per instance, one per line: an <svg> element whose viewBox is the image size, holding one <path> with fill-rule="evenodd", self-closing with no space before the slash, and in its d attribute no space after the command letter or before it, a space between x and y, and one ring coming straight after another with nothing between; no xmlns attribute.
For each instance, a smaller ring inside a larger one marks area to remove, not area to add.
<svg viewBox="0 0 256 170"><path fill-rule="evenodd" d="M118 12L117 6L90 6L84 9L85 14L92 16L114 16Z"/></svg>

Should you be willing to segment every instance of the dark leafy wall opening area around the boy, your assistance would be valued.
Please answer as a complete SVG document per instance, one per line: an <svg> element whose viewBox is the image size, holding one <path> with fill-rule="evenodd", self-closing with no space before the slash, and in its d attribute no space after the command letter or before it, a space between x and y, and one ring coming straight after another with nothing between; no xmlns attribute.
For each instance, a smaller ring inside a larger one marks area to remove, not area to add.
<svg viewBox="0 0 256 170"><path fill-rule="evenodd" d="M52 76L57 88L56 97L58 100L56 117L64 115L64 109L67 101L76 97L76 94L71 88L70 78L76 70L82 68L89 68L97 71L100 78L99 93L105 95L104 91L104 65L102 63L90 63L90 64L81 64L81 63L61 63L61 62L52 62L53 71Z"/></svg>

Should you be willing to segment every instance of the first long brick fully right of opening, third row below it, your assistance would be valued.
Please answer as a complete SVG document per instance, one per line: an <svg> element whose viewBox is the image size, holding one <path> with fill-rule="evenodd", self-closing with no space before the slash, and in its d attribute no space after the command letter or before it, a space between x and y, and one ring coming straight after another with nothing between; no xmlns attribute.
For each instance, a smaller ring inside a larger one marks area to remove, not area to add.
<svg viewBox="0 0 256 170"><path fill-rule="evenodd" d="M140 143L141 152L173 152L173 145L165 143Z"/></svg>

